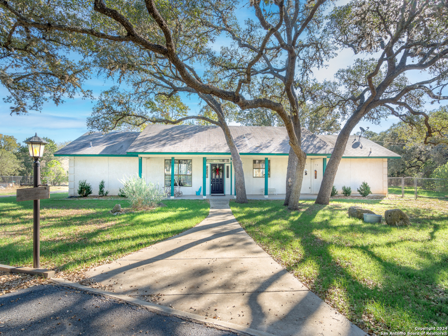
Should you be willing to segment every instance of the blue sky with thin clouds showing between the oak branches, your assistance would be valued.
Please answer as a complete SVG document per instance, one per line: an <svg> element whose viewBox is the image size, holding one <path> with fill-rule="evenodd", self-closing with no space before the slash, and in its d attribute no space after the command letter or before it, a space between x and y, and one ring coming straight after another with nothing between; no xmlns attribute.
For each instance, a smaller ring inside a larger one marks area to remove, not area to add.
<svg viewBox="0 0 448 336"><path fill-rule="evenodd" d="M342 2L346 1L339 1L339 4ZM241 22L253 15L246 8L238 9L237 13ZM224 43L226 43L226 39L218 39L213 47L215 50L219 50ZM328 62L327 68L316 70L314 76L319 81L332 79L333 74L338 69L353 64L353 61L358 57L360 56L353 55L351 50L342 50L338 56ZM422 74L413 73L409 79L417 79L418 77L422 77ZM92 78L86 82L85 88L92 90L94 96L98 97L102 90L107 90L112 85L114 85L112 80L104 81L102 78ZM8 91L0 86L0 97L4 98L6 95L8 95ZM184 95L183 97L183 102L190 107L191 114L195 114L199 110L199 101L200 99L196 95L190 95L190 97ZM35 132L41 137L48 137L56 142L74 140L88 131L86 118L90 116L94 105L95 101L90 99L66 99L65 103L59 106L52 102L44 104L41 112L31 111L25 116L10 116L9 104L0 100L0 134L13 135L20 142L34 135ZM427 106L427 108L434 109L437 106L432 105ZM370 127L370 130L380 132L388 129L395 122L397 122L397 118L393 116L390 116L387 120L382 120L380 125L361 121L353 132L357 132L359 126Z"/></svg>

